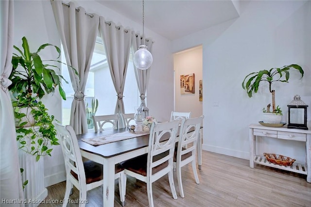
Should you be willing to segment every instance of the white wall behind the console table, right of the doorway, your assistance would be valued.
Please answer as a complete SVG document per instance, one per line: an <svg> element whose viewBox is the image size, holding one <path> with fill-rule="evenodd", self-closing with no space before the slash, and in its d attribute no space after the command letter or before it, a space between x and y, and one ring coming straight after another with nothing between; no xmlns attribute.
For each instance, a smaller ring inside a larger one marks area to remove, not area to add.
<svg viewBox="0 0 311 207"><path fill-rule="evenodd" d="M311 127L310 1L241 1L240 17L173 41L173 52L203 44L203 149L249 158L248 125L258 123L261 109L271 102L268 88L249 98L242 80L251 72L287 64L289 83L276 83L276 104L287 122L287 104L295 94L309 105ZM219 106L213 106L218 102ZM259 151L283 154L304 162L305 145L262 139Z"/></svg>

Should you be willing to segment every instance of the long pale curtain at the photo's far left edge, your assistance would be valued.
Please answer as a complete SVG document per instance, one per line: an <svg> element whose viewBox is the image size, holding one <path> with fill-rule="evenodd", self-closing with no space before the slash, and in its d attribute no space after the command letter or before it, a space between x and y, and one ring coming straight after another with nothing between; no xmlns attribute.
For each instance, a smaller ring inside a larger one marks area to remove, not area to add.
<svg viewBox="0 0 311 207"><path fill-rule="evenodd" d="M23 200L24 193L19 170L15 121L8 91L12 71L14 37L14 1L0 1L0 200L1 206L23 207L24 204L5 204L2 199Z"/></svg>

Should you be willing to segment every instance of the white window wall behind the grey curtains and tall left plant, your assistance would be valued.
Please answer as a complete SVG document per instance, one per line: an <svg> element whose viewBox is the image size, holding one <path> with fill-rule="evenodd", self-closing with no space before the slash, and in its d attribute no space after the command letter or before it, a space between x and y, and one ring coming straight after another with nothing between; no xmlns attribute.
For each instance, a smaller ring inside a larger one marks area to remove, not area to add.
<svg viewBox="0 0 311 207"><path fill-rule="evenodd" d="M97 13L104 16L108 21L114 21L137 32L141 30L141 24L115 13L96 1L78 0L74 2L77 7L84 7L87 13ZM14 3L14 45L21 46L21 38L26 36L31 50L36 50L45 43L60 46L60 38L49 0L15 0ZM173 110L173 54L171 53L171 42L147 29L145 34L155 41L153 45L154 62L147 88L149 114L156 116L159 121L168 120ZM46 57L51 58L51 51L50 53L48 51ZM165 104L163 104L163 100L165 100ZM116 100L112 101L115 102ZM43 98L43 102L57 120L62 120L61 98L58 94L55 93L54 96ZM64 160L60 146L54 147L52 157L45 157L44 161L46 186L65 180Z"/></svg>

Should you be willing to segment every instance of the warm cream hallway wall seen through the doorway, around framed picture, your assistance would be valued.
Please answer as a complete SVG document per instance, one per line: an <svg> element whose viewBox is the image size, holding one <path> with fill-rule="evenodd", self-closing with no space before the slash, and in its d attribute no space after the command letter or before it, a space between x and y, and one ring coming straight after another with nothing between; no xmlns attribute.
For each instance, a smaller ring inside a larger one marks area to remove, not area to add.
<svg viewBox="0 0 311 207"><path fill-rule="evenodd" d="M175 111L191 111L191 117L203 114L203 102L199 101L199 80L202 80L202 46L174 54ZM194 73L194 94L180 93L180 75Z"/></svg>

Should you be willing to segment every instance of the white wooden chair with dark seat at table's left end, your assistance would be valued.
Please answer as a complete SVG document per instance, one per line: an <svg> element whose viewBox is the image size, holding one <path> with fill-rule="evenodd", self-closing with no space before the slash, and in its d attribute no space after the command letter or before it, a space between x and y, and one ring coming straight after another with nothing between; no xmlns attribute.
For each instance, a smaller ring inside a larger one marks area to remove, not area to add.
<svg viewBox="0 0 311 207"><path fill-rule="evenodd" d="M62 147L66 168L66 192L63 207L69 201L69 194L73 185L79 190L79 207L86 206L86 191L104 184L103 165L91 160L83 162L78 145L78 140L73 128L69 125L62 126L53 121L58 139ZM126 178L124 168L120 164L115 166L115 178L119 179L121 204L124 206Z"/></svg>

